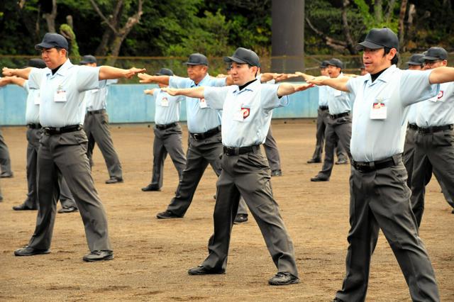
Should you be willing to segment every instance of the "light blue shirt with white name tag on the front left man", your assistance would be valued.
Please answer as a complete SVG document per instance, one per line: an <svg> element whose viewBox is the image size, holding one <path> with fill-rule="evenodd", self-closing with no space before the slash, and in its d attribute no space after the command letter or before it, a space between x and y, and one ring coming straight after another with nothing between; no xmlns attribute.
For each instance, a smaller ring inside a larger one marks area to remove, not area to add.
<svg viewBox="0 0 454 302"><path fill-rule="evenodd" d="M40 89L40 123L43 127L82 125L86 111L84 91L99 88L99 67L72 65L66 60L55 74L48 68L33 68L28 84ZM66 101L62 98L65 91Z"/></svg>

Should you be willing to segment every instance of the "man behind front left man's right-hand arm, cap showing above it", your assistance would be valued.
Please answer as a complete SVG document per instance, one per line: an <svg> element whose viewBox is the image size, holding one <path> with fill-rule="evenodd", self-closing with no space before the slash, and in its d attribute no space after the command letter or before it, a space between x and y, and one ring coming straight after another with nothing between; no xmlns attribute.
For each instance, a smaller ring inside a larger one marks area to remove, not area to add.
<svg viewBox="0 0 454 302"><path fill-rule="evenodd" d="M84 55L79 65L96 67L96 57ZM92 165L94 144L98 144L109 172L109 179L106 180L106 184L123 182L123 171L112 141L111 131L109 130L109 116L106 111L108 86L113 83L116 83L116 79L100 81L99 89L87 91L84 97L84 101L87 104L84 130L88 138L88 159Z"/></svg>

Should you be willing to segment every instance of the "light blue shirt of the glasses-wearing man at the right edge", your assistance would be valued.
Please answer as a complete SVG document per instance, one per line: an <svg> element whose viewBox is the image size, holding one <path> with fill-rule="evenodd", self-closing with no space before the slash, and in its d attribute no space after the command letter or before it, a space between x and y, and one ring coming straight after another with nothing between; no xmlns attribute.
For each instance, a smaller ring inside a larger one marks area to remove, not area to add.
<svg viewBox="0 0 454 302"><path fill-rule="evenodd" d="M454 82L440 84L438 95L418 104L416 125L421 128L454 124Z"/></svg>

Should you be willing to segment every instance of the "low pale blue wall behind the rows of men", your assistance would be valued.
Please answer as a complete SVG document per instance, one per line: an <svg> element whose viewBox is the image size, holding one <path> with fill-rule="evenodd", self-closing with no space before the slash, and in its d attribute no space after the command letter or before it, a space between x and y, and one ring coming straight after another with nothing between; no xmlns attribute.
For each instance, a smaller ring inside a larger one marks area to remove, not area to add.
<svg viewBox="0 0 454 302"><path fill-rule="evenodd" d="M155 102L144 89L157 85L118 84L109 86L107 112L111 123L153 123ZM290 104L277 108L273 118L314 118L317 116L319 89L311 88L290 96ZM181 120L186 121L186 104L181 106ZM0 88L0 125L25 125L26 91L16 85Z"/></svg>

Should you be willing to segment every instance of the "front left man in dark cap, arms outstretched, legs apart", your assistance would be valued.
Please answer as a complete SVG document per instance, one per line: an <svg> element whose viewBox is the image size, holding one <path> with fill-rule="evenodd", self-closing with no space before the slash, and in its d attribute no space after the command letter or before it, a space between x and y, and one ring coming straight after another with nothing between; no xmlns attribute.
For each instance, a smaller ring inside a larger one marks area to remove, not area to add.
<svg viewBox="0 0 454 302"><path fill-rule="evenodd" d="M67 40L57 33L46 33L35 48L41 51L48 68L3 69L4 75L29 79L31 89L40 89L40 124L44 130L38 152L39 208L35 232L28 245L16 250L14 255L50 252L60 171L84 222L90 250L84 261L113 259L106 212L94 188L87 157L87 135L82 128L86 110L84 92L99 89L99 81L103 79L129 78L145 69L72 65L67 58Z"/></svg>

